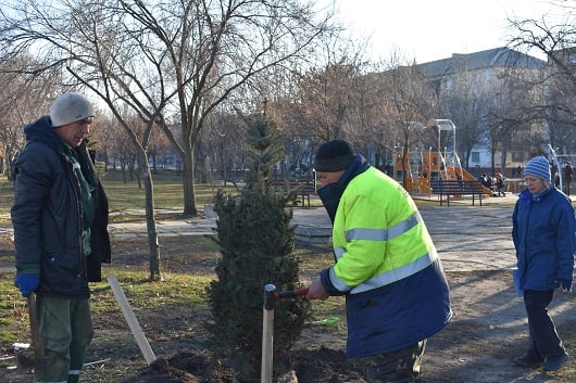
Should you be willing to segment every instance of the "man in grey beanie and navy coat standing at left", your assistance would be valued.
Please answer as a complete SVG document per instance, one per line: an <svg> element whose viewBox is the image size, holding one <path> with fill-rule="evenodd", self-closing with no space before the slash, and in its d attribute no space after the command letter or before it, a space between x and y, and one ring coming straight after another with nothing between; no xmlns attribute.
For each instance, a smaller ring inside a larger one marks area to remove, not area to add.
<svg viewBox="0 0 576 383"><path fill-rule="evenodd" d="M108 201L86 148L95 119L82 94L64 93L24 128L14 164L15 285L36 293L46 362L35 382L76 383L93 335L88 282L110 261Z"/></svg>

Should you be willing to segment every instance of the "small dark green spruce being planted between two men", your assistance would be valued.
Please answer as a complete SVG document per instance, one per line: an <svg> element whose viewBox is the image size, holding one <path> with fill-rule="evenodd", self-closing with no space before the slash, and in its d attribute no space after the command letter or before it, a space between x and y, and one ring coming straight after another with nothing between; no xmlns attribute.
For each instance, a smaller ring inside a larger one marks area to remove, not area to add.
<svg viewBox="0 0 576 383"><path fill-rule="evenodd" d="M216 195L217 242L221 259L217 280L206 288L212 318L210 344L224 357L240 382L259 382L262 359L263 288L298 288L299 260L290 225L290 191L275 189L271 176L284 157L276 126L265 115L248 124L249 171L239 196ZM302 298L276 302L274 371L285 372L289 353L300 337L310 303Z"/></svg>

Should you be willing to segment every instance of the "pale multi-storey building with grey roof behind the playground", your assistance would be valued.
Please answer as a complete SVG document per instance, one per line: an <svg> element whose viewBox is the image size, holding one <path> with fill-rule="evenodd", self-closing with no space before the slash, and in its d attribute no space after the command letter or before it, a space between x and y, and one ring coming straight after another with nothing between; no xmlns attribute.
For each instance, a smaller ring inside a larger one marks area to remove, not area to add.
<svg viewBox="0 0 576 383"><path fill-rule="evenodd" d="M516 176L515 169L546 146L547 63L509 48L453 54L417 65L431 98L456 127L456 152L471 173Z"/></svg>

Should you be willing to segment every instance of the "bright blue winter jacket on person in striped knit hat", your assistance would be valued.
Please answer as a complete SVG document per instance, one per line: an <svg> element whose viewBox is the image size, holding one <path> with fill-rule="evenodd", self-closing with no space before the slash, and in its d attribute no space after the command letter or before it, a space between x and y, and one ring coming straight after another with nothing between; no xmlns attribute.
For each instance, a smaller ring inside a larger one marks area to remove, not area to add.
<svg viewBox="0 0 576 383"><path fill-rule="evenodd" d="M553 186L537 197L519 194L512 215L522 290L549 291L573 280L576 219L569 199Z"/></svg>

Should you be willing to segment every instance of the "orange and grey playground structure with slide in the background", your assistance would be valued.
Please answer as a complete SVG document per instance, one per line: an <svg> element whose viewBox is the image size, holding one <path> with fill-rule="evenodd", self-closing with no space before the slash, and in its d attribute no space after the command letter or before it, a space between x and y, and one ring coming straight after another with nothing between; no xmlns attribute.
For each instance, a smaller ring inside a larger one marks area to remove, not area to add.
<svg viewBox="0 0 576 383"><path fill-rule="evenodd" d="M462 168L460 157L456 153L456 127L450 119L430 119L427 124L430 128L438 130L437 151L431 148L428 151L413 151L396 148L393 154L393 178L404 186L411 193L429 194L430 180L475 180L476 178L466 169ZM443 131L452 132L452 151L441 148L441 135ZM483 188L483 193L492 195L488 188Z"/></svg>

